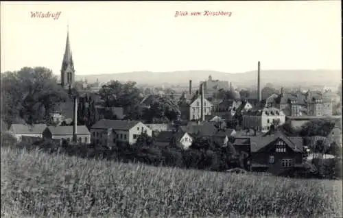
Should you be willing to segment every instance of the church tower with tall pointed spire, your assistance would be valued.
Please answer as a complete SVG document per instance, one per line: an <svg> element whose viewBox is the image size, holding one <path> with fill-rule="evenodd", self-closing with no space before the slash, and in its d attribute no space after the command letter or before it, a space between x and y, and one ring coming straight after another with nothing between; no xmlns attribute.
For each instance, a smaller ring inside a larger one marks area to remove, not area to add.
<svg viewBox="0 0 343 218"><path fill-rule="evenodd" d="M67 43L61 68L61 85L64 88L72 87L75 82L75 69L73 63L73 56L71 55L71 48L69 42L69 28L67 29Z"/></svg>

